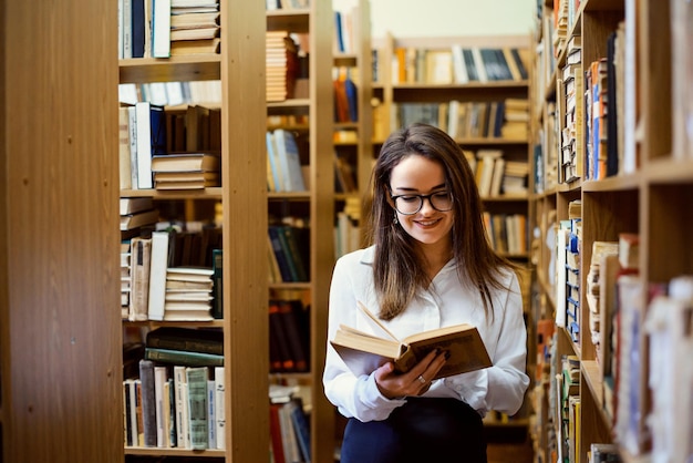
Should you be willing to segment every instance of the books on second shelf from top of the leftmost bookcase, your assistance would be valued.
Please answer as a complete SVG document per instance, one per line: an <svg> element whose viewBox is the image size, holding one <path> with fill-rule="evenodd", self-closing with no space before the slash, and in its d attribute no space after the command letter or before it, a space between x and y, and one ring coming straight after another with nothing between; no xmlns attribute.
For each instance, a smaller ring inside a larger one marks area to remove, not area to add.
<svg viewBox="0 0 693 463"><path fill-rule="evenodd" d="M164 111L149 102L120 109L122 189L200 189L220 185L221 113L189 105Z"/></svg>

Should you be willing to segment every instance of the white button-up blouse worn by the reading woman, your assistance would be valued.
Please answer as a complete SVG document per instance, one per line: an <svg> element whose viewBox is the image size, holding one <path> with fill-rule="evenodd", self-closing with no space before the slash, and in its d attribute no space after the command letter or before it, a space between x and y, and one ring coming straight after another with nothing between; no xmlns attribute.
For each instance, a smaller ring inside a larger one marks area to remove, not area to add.
<svg viewBox="0 0 693 463"><path fill-rule="evenodd" d="M373 287L374 248L356 250L341 257L332 275L328 341L340 325L383 336L358 309L361 301L377 313ZM509 290L492 290L493 318L486 316L479 291L457 278L454 259L435 276L433 285L410 303L401 315L382 321L399 338L458 323L477 327L493 367L433 381L425 397L455 398L479 414L489 410L516 413L523 404L529 378L525 373L527 330L523 317L523 298L515 272L503 274ZM361 421L384 420L404 399L382 395L373 374L356 378L328 342L323 385L327 398L340 413Z"/></svg>

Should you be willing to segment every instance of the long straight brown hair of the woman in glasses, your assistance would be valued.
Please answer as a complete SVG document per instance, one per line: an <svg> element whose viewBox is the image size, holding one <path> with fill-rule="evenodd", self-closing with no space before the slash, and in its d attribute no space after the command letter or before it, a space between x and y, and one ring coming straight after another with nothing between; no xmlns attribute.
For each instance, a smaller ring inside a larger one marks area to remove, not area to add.
<svg viewBox="0 0 693 463"><path fill-rule="evenodd" d="M462 281L479 289L484 308L492 313L492 288L501 288L498 270L514 269L513 263L492 248L483 219L483 204L474 173L457 143L444 131L427 124L412 124L387 137L371 177L372 207L369 217L371 240L375 244L373 277L380 302L380 318L401 313L420 289L431 284L416 241L394 223L395 210L387 202L392 169L405 157L424 156L445 172L445 184L453 195L453 256Z"/></svg>

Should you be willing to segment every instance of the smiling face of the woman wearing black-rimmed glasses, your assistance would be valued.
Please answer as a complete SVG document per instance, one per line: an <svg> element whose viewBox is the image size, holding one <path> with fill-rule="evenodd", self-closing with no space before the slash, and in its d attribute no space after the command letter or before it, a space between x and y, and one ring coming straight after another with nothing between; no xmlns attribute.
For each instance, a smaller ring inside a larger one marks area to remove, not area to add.
<svg viewBox="0 0 693 463"><path fill-rule="evenodd" d="M438 209L446 209L447 202L444 193L449 191L445 185L445 172L443 166L424 156L413 154L403 158L391 172L390 188L392 196L401 196L396 199L400 210L410 207L415 209L418 198L412 195L433 195L434 204ZM451 246L451 230L453 228L453 212L437 210L431 204L431 197L424 198L422 207L415 214L406 215L396 212L397 220L402 228L422 245ZM411 205L414 204L412 207ZM395 202L391 200L394 207Z"/></svg>

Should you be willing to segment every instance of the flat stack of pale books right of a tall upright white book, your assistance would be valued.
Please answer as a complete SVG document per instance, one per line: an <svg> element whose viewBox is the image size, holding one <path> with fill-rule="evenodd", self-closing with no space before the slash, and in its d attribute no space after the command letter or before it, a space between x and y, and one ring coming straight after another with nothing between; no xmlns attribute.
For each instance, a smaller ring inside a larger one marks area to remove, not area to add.
<svg viewBox="0 0 693 463"><path fill-rule="evenodd" d="M164 320L211 321L214 270L205 267L170 267L166 270Z"/></svg>

